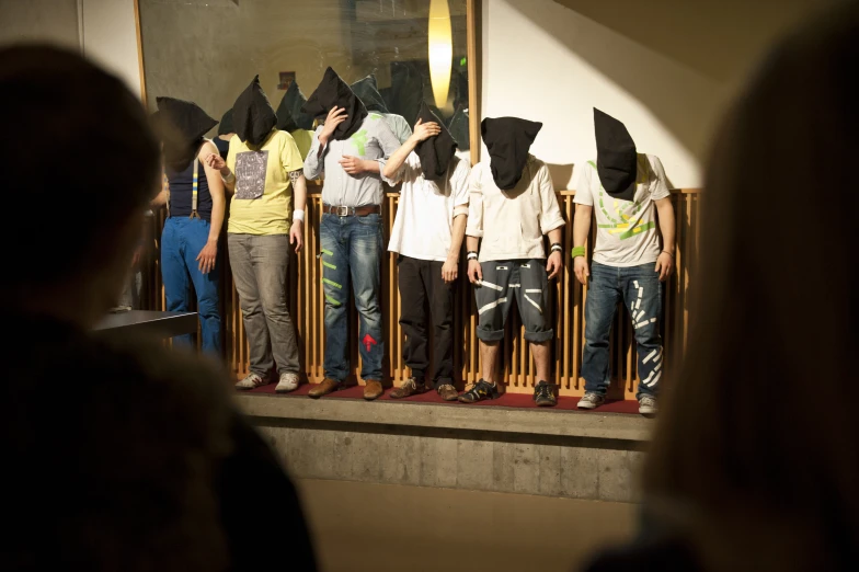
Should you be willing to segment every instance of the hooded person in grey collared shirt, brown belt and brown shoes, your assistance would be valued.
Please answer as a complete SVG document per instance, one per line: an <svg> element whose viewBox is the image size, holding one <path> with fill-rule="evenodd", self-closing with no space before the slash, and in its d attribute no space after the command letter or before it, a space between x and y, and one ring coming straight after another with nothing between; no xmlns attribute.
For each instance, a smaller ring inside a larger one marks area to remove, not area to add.
<svg viewBox="0 0 859 572"><path fill-rule="evenodd" d="M309 396L320 398L341 389L348 376L346 297L352 282L359 314L364 398L373 400L383 392L385 355L378 299L383 196L379 173L385 160L400 148L400 141L381 115L369 115L331 68L302 111L312 117L327 115L305 162L308 179L325 175L319 228L325 294L325 379Z"/></svg>

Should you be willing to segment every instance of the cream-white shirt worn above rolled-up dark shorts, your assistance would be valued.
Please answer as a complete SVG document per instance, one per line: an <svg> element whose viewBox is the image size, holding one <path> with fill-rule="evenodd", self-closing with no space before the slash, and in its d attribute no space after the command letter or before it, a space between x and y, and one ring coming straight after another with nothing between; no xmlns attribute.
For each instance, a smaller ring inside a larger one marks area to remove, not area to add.
<svg viewBox="0 0 859 572"><path fill-rule="evenodd" d="M476 164L470 195L466 234L483 239L480 262L545 259L543 234L564 225L549 168L530 155L511 191L495 184L489 161Z"/></svg>

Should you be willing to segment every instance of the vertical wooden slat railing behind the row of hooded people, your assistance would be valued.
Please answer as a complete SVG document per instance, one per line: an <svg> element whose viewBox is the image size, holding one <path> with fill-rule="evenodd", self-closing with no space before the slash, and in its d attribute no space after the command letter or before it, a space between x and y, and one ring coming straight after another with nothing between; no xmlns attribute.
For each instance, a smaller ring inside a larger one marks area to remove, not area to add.
<svg viewBox="0 0 859 572"><path fill-rule="evenodd" d="M572 191L558 193L558 199L568 225L564 227L564 271L554 281L552 312L556 339L553 342L553 375L559 384L562 396L581 396L584 381L579 377L582 363L584 342L584 304L587 299L587 287L583 287L572 273L569 258L572 244L574 213ZM303 361L303 369L310 382L319 382L324 377L322 368L324 354L324 296L322 293L321 263L318 259L319 224L321 220L319 187L311 185L308 197L305 222L305 249L299 254L291 254L289 284L289 307L298 329L299 350ZM397 214L399 195L388 193L382 205L386 221L386 233L393 225ZM700 213L699 190L678 190L672 192L672 201L676 213L677 255L676 272L665 287L665 320L663 335L666 351L683 352L686 347L689 290L698 261L698 220ZM163 211L152 218L149 232L154 244L148 254L144 267L144 306L148 309L164 309L163 288L161 283L159 247L163 227ZM226 237L225 237L226 239ZM386 236L387 244L387 236ZM226 240L220 245L221 275L221 317L224 330L224 358L236 374L243 376L248 370L248 340L244 333L239 298L232 283L229 261L226 256ZM465 261L465 255L461 256ZM381 267L381 311L385 323L386 359L385 370L389 379L399 385L409 377L409 370L402 358L403 333L399 324L400 295L397 288L397 264L394 255L388 253L382 259ZM465 263L460 267L460 281L455 306L455 364L461 373L460 380L472 384L481 377L476 328L478 323L474 296L471 285L466 278ZM357 313L351 305L352 367L351 375L357 379L360 370L360 357L357 347ZM507 334L503 342L503 379L511 392L530 392L535 379L534 362L528 344L524 339L524 328L518 313L511 312ZM635 344L629 316L620 305L615 320L611 336L612 384L610 396L614 398L632 399L638 384L635 374ZM666 376L666 377L669 377Z"/></svg>

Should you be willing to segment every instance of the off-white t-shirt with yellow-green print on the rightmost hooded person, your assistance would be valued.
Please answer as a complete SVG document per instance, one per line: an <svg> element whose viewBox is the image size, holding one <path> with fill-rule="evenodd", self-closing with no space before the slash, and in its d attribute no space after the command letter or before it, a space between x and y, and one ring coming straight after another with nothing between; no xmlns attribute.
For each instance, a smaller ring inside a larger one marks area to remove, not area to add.
<svg viewBox="0 0 859 572"><path fill-rule="evenodd" d="M596 161L587 161L583 167L574 202L594 207L597 225L594 262L629 267L656 262L660 258L653 202L671 193L658 157L639 153L635 185L632 201L614 198L599 182Z"/></svg>

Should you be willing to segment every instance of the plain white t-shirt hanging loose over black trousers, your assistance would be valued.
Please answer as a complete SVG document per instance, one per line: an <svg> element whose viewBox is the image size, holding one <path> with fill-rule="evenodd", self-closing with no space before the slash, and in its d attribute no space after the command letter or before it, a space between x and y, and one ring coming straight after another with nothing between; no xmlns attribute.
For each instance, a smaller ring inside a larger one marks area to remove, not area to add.
<svg viewBox="0 0 859 572"><path fill-rule="evenodd" d="M421 170L421 159L414 152L409 153L396 179L386 179L391 185L402 181L388 250L410 259L447 260L454 218L468 215L470 172L468 162L455 157L444 181L427 181Z"/></svg>

